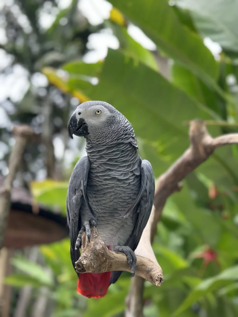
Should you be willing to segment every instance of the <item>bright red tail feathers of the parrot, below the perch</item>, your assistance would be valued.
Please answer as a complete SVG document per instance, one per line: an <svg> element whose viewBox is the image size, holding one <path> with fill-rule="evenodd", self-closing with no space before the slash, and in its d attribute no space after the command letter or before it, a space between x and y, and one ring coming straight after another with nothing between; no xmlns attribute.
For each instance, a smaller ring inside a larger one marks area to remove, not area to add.
<svg viewBox="0 0 238 317"><path fill-rule="evenodd" d="M81 273L78 278L77 292L88 298L100 298L107 294L111 272Z"/></svg>

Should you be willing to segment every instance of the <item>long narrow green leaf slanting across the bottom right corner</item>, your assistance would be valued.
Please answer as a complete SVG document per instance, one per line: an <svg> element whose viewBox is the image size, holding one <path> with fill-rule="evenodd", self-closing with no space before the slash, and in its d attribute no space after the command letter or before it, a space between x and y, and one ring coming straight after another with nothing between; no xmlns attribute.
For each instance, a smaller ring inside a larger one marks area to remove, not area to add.
<svg viewBox="0 0 238 317"><path fill-rule="evenodd" d="M238 266L228 268L220 274L203 280L195 289L188 295L182 305L175 311L175 316L181 314L184 310L190 307L194 302L200 300L203 296L209 294L215 289L227 285L229 282L238 279Z"/></svg>

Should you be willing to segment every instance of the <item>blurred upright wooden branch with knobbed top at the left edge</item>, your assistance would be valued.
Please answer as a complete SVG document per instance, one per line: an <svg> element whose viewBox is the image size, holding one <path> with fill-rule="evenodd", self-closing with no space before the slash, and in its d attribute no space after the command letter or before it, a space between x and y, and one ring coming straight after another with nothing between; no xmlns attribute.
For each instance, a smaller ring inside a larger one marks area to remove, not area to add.
<svg viewBox="0 0 238 317"><path fill-rule="evenodd" d="M15 136L16 142L9 158L9 173L5 177L3 186L0 189L0 250L3 247L6 224L10 212L12 183L22 161L26 144L34 135L34 131L30 126L14 126L13 135Z"/></svg>

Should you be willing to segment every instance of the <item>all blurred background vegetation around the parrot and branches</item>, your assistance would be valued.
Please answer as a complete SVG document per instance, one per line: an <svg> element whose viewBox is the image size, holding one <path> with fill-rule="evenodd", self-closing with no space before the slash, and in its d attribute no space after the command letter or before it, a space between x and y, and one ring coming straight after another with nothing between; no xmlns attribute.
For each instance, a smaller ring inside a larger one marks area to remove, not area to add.
<svg viewBox="0 0 238 317"><path fill-rule="evenodd" d="M1 92L0 168L5 175L13 123L41 132L42 142L28 146L16 180L30 183L37 201L65 214L69 175L84 152L83 140L67 134L78 100L107 101L129 119L155 178L189 146L186 121L208 120L213 136L237 132L237 0L111 0L108 16L97 25L83 16L78 1L62 3L1 4L0 80L11 89ZM154 42L151 50L129 35L131 23ZM85 63L95 35L98 41L111 36L114 49ZM164 283L145 283L145 316L238 315L237 162L236 145L216 150L169 198L153 244ZM29 252L17 252L15 273L6 278L14 287L11 316L18 317L26 287L26 316L33 316L39 298L45 301L37 316L123 316L129 274L106 297L87 300L76 293L69 239L41 246L34 260Z"/></svg>

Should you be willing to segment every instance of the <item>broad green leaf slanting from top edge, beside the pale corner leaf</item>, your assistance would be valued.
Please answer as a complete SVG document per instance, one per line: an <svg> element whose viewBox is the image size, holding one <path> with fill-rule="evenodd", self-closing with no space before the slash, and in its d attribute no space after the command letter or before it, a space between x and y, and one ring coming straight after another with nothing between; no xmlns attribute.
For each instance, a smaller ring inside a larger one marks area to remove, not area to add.
<svg viewBox="0 0 238 317"><path fill-rule="evenodd" d="M202 40L183 27L167 0L111 0L165 53L199 76L216 78L217 65Z"/></svg>

